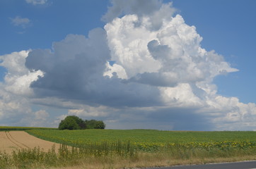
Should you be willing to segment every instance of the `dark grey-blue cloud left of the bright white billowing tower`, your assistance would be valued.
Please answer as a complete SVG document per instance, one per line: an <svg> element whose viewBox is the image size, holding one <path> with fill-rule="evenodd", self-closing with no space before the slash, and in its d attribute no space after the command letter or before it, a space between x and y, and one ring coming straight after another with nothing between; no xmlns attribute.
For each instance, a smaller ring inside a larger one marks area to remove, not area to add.
<svg viewBox="0 0 256 169"><path fill-rule="evenodd" d="M139 106L158 102L158 89L141 84L124 82L125 71L118 65L106 68L110 61L105 30L92 30L88 39L83 35L68 35L53 49L31 51L25 65L30 70L42 70L43 77L31 84L39 97L56 96L83 104L106 106ZM121 71L122 70L122 71ZM104 76L105 75L105 76ZM110 77L111 76L111 77Z"/></svg>

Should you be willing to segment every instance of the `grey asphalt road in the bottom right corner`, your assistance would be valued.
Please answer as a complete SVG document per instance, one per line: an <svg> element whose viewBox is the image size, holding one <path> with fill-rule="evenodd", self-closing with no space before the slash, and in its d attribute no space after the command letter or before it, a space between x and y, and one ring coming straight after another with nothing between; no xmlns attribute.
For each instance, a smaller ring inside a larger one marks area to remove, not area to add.
<svg viewBox="0 0 256 169"><path fill-rule="evenodd" d="M217 163L217 164L206 164L206 165L186 165L186 166L148 168L148 169L256 169L256 161Z"/></svg>

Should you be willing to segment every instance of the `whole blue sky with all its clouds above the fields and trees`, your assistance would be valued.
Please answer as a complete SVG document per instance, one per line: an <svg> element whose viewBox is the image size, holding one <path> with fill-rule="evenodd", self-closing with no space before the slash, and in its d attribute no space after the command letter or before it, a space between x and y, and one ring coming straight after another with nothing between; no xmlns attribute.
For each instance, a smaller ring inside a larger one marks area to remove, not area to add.
<svg viewBox="0 0 256 169"><path fill-rule="evenodd" d="M255 7L1 0L0 125L256 130Z"/></svg>

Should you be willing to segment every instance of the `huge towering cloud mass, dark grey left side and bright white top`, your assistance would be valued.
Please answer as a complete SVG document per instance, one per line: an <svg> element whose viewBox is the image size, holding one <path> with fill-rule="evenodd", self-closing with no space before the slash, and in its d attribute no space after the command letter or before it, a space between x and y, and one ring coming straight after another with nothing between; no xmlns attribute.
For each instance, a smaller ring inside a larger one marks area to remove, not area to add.
<svg viewBox="0 0 256 169"><path fill-rule="evenodd" d="M104 118L113 128L255 129L255 104L221 96L213 83L238 69L206 51L196 27L174 15L172 4L113 0L112 5L103 16L104 29L88 37L67 35L52 50L24 53L22 75L2 58L18 75L6 75L11 84L6 91L25 91L34 104L69 108L69 114ZM19 79L25 88L16 91ZM35 113L37 119L47 117L45 111Z"/></svg>

